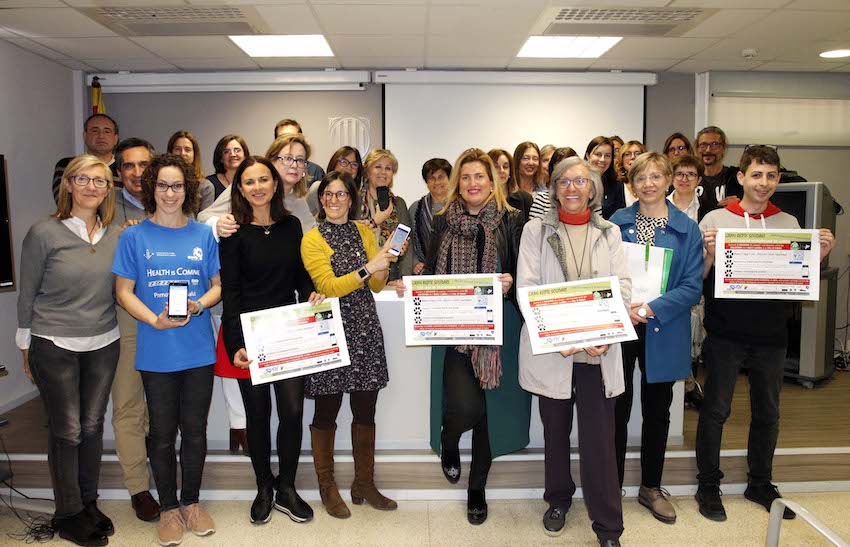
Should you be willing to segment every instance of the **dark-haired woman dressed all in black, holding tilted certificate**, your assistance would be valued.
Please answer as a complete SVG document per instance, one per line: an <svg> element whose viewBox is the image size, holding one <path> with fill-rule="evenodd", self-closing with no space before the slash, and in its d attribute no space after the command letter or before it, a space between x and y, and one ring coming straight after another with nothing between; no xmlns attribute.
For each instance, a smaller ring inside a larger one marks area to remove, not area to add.
<svg viewBox="0 0 850 547"><path fill-rule="evenodd" d="M293 136L282 138L289 137ZM289 148L285 149L282 155L291 159ZM300 153L303 155L303 152L302 147ZM284 177L301 180L305 164L297 165L294 160L289 163L284 168ZM313 518L313 510L295 491L295 473L301 453L304 377L252 385L239 317L246 312L307 301L307 297L313 304L323 299L313 291L313 282L301 262L301 222L284 206L287 186L291 184L285 183L271 161L259 156L243 161L233 177L230 195L231 211L239 229L230 237L222 238L219 248L224 302L222 332L233 365L219 361L216 373L238 378L245 405L248 446L257 478L257 497L250 513L253 523L268 522L272 506L295 522ZM280 475L277 479L271 469L270 388L274 389L280 420L277 429Z"/></svg>

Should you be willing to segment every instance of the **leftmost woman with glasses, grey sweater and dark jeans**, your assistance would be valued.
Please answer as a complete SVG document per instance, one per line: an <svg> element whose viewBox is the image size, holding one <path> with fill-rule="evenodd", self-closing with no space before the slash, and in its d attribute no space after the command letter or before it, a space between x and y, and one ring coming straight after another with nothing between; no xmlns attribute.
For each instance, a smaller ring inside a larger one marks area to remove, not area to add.
<svg viewBox="0 0 850 547"><path fill-rule="evenodd" d="M97 508L103 415L118 365L112 259L112 171L94 156L71 160L58 207L21 250L18 331L24 371L47 409L53 528L79 545L106 545L112 521Z"/></svg>

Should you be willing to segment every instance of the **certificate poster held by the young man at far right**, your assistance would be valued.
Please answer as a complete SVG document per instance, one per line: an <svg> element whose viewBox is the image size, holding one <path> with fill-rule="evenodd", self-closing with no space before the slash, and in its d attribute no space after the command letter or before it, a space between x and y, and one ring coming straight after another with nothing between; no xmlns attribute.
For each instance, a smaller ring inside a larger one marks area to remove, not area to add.
<svg viewBox="0 0 850 547"><path fill-rule="evenodd" d="M817 230L718 230L715 298L818 300Z"/></svg>

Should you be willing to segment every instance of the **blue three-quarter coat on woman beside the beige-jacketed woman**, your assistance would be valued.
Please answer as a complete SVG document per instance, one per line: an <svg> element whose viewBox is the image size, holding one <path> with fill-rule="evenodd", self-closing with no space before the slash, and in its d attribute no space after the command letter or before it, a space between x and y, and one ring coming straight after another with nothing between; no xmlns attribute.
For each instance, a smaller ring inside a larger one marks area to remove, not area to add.
<svg viewBox="0 0 850 547"><path fill-rule="evenodd" d="M637 243L640 203L620 209L611 222L620 227L623 241ZM672 382L691 370L691 307L702 296L703 248L697 223L668 204L666 228L655 229L655 246L673 249L667 292L649 302L655 313L646 325L646 380Z"/></svg>

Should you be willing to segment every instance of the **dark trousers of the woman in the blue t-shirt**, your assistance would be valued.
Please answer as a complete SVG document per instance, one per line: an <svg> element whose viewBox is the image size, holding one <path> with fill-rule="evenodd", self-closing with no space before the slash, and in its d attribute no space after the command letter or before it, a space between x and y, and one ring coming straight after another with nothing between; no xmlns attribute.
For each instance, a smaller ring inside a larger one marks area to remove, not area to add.
<svg viewBox="0 0 850 547"><path fill-rule="evenodd" d="M150 415L149 457L162 511L198 503L207 457L207 416L212 400L213 367L176 372L141 371ZM180 429L180 503L177 455Z"/></svg>

